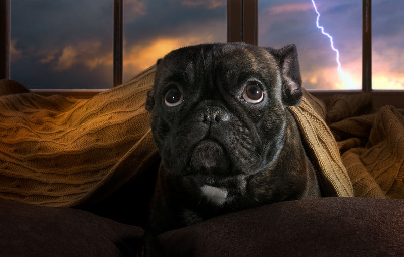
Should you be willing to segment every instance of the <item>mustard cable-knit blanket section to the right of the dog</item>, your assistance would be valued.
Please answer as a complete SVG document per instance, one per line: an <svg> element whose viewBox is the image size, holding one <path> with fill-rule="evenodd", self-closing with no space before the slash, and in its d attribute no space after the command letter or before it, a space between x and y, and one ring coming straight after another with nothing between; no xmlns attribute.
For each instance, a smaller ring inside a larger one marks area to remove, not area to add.
<svg viewBox="0 0 404 257"><path fill-rule="evenodd" d="M308 92L290 109L331 196L404 198L404 110L374 109L369 93L320 101Z"/></svg>

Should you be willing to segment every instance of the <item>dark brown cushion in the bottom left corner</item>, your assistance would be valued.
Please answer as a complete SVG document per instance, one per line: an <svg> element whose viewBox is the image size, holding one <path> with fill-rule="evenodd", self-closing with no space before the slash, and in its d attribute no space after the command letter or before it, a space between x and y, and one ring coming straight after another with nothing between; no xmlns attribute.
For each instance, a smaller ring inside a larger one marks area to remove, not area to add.
<svg viewBox="0 0 404 257"><path fill-rule="evenodd" d="M142 236L88 212L0 199L0 256L135 256Z"/></svg>

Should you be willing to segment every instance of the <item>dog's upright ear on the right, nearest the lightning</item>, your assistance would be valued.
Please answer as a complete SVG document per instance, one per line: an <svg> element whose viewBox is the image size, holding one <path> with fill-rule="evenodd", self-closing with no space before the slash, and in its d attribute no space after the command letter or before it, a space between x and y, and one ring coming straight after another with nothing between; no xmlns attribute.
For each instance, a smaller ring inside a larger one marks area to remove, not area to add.
<svg viewBox="0 0 404 257"><path fill-rule="evenodd" d="M282 77L282 101L286 106L297 106L303 95L297 50L295 45L281 49L265 48L278 61Z"/></svg>

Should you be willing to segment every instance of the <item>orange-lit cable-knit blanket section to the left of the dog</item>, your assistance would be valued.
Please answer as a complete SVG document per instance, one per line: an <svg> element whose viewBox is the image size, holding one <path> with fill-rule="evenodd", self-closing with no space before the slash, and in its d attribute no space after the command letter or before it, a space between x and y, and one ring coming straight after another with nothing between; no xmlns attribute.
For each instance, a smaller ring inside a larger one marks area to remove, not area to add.
<svg viewBox="0 0 404 257"><path fill-rule="evenodd" d="M0 197L75 206L143 172L157 154L144 109L154 72L85 100L9 94L15 81L2 80L8 95L0 97Z"/></svg>

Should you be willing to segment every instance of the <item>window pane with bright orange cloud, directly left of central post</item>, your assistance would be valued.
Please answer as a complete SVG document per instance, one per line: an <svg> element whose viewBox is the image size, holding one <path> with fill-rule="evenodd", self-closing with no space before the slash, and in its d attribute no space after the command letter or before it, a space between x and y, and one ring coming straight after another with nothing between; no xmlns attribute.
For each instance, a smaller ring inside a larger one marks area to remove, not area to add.
<svg viewBox="0 0 404 257"><path fill-rule="evenodd" d="M125 0L123 81L171 50L226 42L226 0Z"/></svg>

